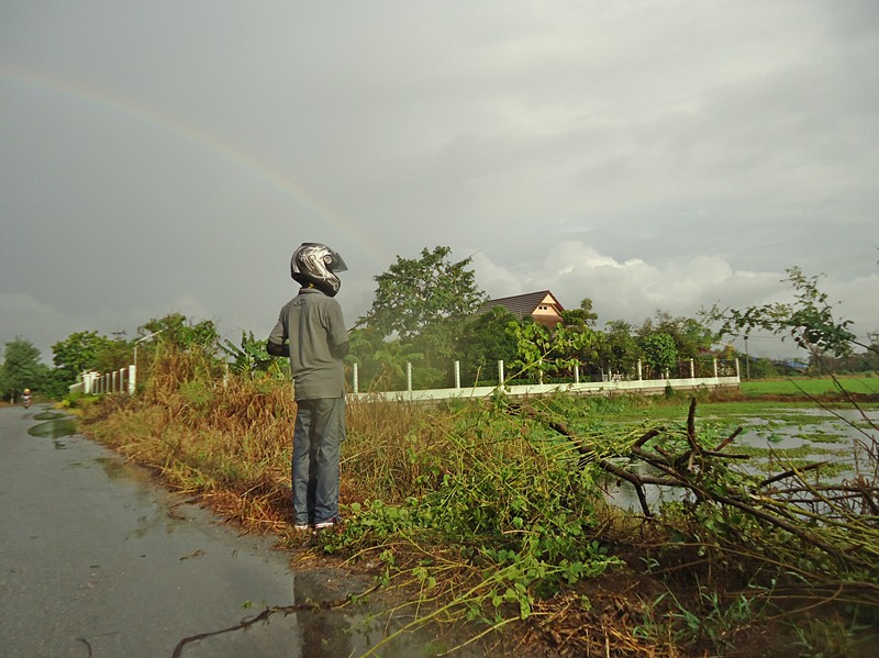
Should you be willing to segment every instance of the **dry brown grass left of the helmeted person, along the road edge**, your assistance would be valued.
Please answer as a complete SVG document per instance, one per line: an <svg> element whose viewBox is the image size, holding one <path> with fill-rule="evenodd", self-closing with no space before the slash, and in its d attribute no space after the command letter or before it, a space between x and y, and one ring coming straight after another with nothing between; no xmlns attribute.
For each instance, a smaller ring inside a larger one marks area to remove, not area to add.
<svg viewBox="0 0 879 658"><path fill-rule="evenodd" d="M296 417L290 387L213 375L197 356L166 355L142 394L105 398L91 408L87 430L248 529L281 529L289 515Z"/></svg>

